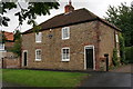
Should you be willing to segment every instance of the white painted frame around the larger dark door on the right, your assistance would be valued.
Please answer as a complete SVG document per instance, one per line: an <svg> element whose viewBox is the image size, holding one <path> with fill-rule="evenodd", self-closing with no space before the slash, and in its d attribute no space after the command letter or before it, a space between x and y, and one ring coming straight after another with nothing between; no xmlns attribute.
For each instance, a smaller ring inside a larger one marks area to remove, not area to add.
<svg viewBox="0 0 133 89"><path fill-rule="evenodd" d="M85 49L93 49L93 70L95 70L95 52L94 52L94 46L84 46L84 70L86 70L86 52Z"/></svg>

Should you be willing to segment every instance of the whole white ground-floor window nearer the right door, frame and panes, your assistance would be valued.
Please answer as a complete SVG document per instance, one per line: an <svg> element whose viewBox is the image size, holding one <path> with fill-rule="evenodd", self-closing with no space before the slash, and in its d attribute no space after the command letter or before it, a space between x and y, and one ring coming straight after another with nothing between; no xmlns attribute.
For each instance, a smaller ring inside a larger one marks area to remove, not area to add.
<svg viewBox="0 0 133 89"><path fill-rule="evenodd" d="M62 48L62 61L70 61L70 48Z"/></svg>

